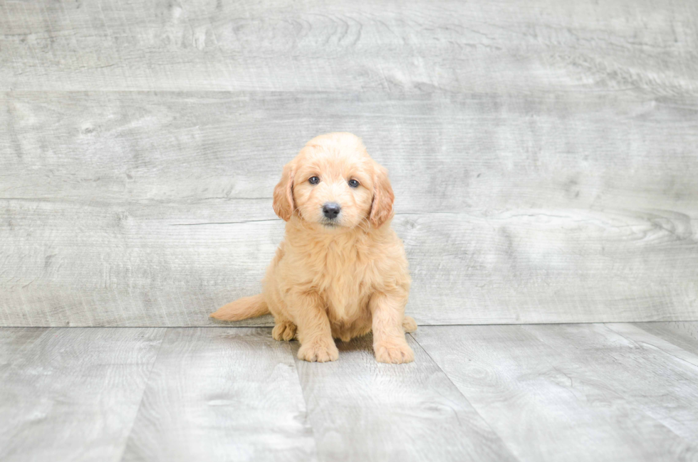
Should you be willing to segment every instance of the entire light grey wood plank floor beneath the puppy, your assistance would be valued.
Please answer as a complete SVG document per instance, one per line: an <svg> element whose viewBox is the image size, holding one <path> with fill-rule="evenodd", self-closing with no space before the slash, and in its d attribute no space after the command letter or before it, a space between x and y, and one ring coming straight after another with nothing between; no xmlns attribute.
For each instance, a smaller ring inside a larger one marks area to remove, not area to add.
<svg viewBox="0 0 698 462"><path fill-rule="evenodd" d="M389 365L370 337L311 364L265 327L3 327L0 459L695 461L697 328L420 326Z"/></svg>

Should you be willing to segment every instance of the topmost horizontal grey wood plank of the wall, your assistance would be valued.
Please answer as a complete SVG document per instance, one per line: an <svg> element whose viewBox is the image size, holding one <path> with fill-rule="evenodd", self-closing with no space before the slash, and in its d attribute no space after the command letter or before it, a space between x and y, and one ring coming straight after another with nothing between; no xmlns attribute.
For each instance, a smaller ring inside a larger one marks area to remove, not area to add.
<svg viewBox="0 0 698 462"><path fill-rule="evenodd" d="M2 90L698 94L692 0L0 2Z"/></svg>

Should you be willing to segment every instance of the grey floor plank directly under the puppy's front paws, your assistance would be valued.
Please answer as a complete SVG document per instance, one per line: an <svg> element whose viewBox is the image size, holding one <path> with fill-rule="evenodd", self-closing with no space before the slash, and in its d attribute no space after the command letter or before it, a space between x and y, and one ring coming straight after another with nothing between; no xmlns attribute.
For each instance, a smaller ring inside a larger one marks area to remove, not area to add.
<svg viewBox="0 0 698 462"><path fill-rule="evenodd" d="M412 337L410 364L380 364L370 335L338 342L339 359L296 359L323 461L515 461ZM298 342L293 342L294 352Z"/></svg>

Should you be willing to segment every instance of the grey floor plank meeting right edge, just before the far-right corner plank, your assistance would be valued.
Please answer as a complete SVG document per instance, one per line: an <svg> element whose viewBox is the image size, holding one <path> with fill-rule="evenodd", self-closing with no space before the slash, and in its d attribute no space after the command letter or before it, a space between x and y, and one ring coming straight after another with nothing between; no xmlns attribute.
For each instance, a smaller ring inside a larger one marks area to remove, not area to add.
<svg viewBox="0 0 698 462"><path fill-rule="evenodd" d="M593 367L603 386L692 444L698 458L698 357L627 324L522 326Z"/></svg>

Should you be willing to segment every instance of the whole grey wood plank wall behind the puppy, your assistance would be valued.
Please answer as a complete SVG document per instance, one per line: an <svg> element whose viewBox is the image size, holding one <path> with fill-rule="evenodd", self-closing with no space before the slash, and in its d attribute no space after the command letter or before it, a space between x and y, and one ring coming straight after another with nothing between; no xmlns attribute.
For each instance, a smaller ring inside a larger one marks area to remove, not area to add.
<svg viewBox="0 0 698 462"><path fill-rule="evenodd" d="M0 0L0 325L212 325L329 131L420 324L698 320L695 1Z"/></svg>

